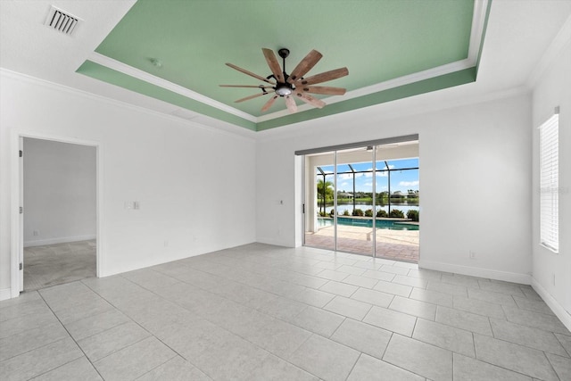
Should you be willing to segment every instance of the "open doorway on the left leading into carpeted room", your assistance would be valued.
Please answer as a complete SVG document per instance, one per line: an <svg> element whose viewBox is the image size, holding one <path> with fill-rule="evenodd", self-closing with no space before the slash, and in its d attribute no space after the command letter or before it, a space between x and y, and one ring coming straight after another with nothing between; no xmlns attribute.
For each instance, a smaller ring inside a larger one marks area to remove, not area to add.
<svg viewBox="0 0 571 381"><path fill-rule="evenodd" d="M97 275L97 147L21 137L21 291Z"/></svg>

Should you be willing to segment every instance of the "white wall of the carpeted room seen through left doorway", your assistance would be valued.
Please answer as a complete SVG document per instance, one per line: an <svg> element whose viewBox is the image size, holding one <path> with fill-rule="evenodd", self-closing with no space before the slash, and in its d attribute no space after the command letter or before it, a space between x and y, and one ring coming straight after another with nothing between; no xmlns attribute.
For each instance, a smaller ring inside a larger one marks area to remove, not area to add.
<svg viewBox="0 0 571 381"><path fill-rule="evenodd" d="M95 147L23 139L24 247L94 239Z"/></svg>

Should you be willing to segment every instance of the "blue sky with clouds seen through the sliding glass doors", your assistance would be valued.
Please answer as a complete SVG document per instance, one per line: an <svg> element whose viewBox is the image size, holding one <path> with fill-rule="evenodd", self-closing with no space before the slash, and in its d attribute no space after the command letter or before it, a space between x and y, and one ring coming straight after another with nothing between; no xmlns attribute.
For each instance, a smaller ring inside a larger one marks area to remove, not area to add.
<svg viewBox="0 0 571 381"><path fill-rule="evenodd" d="M391 170L391 192L401 191L405 195L409 189L419 190L418 170L398 170L401 168L418 168L418 158L387 161ZM371 162L352 163L353 170L372 170ZM321 166L327 176L326 180L333 181L333 165ZM377 169L385 169L385 162L377 162ZM347 164L340 164L337 172L351 171ZM319 170L318 170L319 173ZM388 190L388 172L377 173L377 193ZM339 173L337 175L337 190L352 193L353 191L353 175L352 173ZM322 179L322 176L318 176ZM356 192L372 192L373 191L373 173L356 173L355 174L355 191Z"/></svg>

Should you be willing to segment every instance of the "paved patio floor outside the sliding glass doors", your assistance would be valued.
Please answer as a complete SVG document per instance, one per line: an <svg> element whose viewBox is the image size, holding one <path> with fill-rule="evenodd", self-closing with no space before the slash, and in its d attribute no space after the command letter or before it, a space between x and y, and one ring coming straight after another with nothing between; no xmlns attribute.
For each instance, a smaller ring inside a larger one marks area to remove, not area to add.
<svg viewBox="0 0 571 381"><path fill-rule="evenodd" d="M372 256L371 228L338 226L337 251ZM418 230L377 229L377 257L418 263ZM334 250L334 228L305 233L307 246Z"/></svg>

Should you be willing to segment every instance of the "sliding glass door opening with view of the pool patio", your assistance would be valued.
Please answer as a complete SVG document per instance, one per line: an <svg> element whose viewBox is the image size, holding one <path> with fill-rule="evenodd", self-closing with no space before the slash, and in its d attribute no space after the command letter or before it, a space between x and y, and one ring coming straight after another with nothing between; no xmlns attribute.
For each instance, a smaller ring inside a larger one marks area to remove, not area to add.
<svg viewBox="0 0 571 381"><path fill-rule="evenodd" d="M418 263L418 137L304 158L305 245Z"/></svg>

